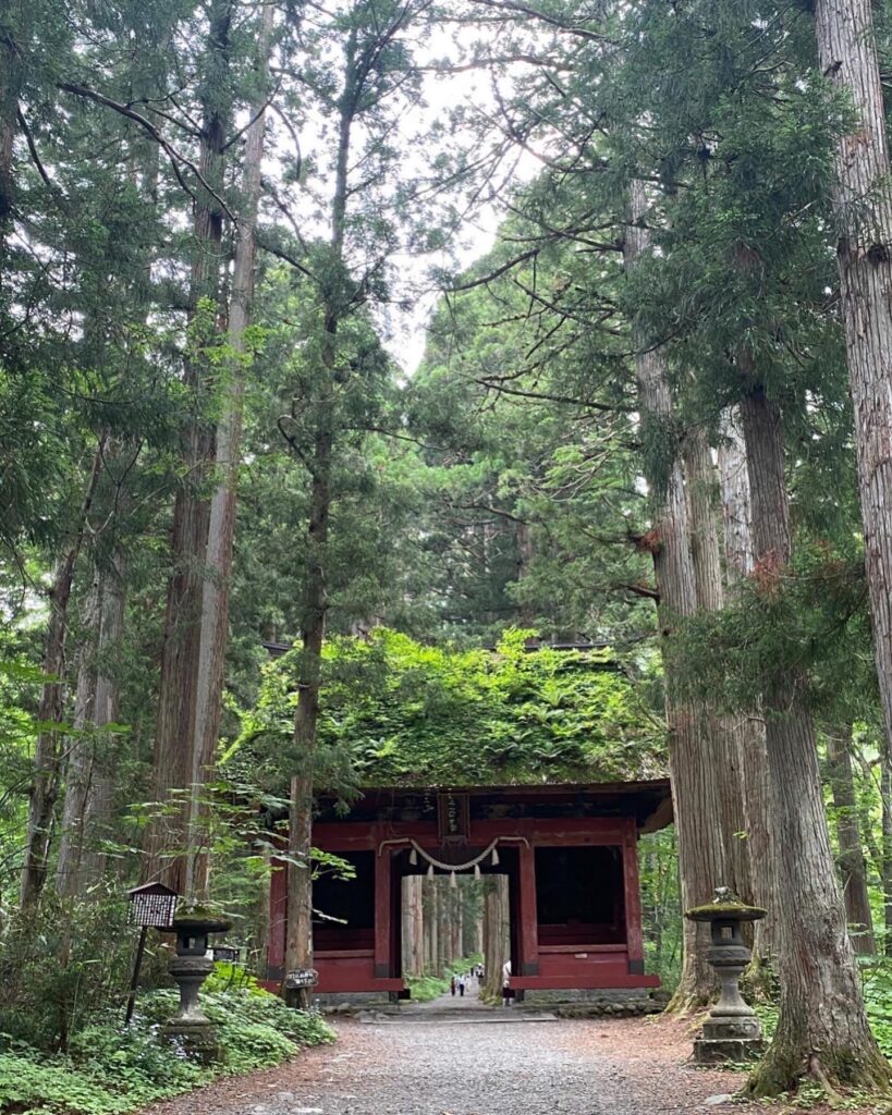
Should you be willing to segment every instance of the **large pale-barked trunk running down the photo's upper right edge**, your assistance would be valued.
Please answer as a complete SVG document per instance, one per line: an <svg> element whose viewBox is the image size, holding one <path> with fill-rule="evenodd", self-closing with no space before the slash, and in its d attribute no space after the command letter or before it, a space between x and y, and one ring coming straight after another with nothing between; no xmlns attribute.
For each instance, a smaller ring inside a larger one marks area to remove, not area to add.
<svg viewBox="0 0 892 1115"><path fill-rule="evenodd" d="M857 122L836 146L842 317L874 651L892 759L892 187L871 0L815 0L821 69Z"/></svg>

